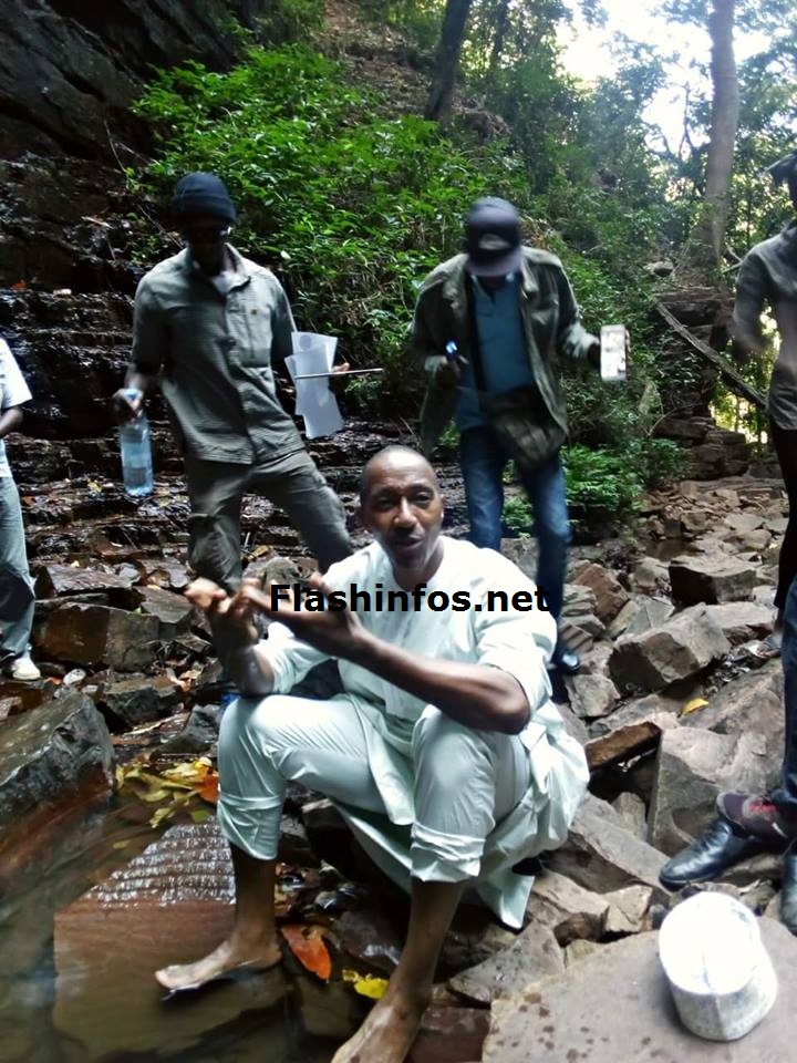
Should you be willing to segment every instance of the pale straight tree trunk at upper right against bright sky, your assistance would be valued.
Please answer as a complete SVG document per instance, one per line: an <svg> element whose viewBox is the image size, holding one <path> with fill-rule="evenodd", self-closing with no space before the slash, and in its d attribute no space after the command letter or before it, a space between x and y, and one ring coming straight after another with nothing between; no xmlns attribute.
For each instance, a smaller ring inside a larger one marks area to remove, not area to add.
<svg viewBox="0 0 797 1063"><path fill-rule="evenodd" d="M712 123L706 188L697 230L697 248L706 264L718 265L725 246L731 174L738 126L739 90L734 58L735 0L713 0L708 16L712 40Z"/></svg>

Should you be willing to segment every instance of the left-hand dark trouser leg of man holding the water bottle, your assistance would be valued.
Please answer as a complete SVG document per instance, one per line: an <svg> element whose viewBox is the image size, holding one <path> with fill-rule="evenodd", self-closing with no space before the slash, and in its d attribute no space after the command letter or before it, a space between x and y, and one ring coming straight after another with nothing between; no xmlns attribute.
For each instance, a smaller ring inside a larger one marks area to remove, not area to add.
<svg viewBox="0 0 797 1063"><path fill-rule="evenodd" d="M188 561L230 592L241 578L240 509L249 474L248 465L186 457Z"/></svg>

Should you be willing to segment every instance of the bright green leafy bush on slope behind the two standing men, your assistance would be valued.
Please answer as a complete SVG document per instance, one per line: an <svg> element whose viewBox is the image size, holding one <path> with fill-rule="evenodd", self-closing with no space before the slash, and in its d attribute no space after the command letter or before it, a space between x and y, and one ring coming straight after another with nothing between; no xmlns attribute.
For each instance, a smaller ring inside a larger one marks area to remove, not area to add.
<svg viewBox="0 0 797 1063"><path fill-rule="evenodd" d="M250 48L227 74L163 71L137 110L162 145L156 189L165 197L188 171L218 173L240 208L236 245L279 267L303 328L385 367L381 388L363 382L353 395L387 396L395 411L418 392L404 362L417 281L457 249L473 199L489 190L522 203L526 187L503 145L455 144L380 104L293 44Z"/></svg>

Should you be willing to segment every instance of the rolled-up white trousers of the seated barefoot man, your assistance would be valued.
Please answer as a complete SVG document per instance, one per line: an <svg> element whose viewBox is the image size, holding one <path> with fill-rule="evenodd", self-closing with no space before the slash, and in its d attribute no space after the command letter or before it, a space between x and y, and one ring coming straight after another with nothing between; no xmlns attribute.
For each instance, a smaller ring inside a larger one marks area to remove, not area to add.
<svg viewBox="0 0 797 1063"><path fill-rule="evenodd" d="M404 863L424 881L476 878L485 839L531 782L516 735L474 731L428 706L405 756L345 695L232 702L221 721L218 763L221 829L250 856L276 858L286 784L294 781L374 825L383 817L387 850L402 844L394 825L405 825ZM411 815L397 816L400 806Z"/></svg>

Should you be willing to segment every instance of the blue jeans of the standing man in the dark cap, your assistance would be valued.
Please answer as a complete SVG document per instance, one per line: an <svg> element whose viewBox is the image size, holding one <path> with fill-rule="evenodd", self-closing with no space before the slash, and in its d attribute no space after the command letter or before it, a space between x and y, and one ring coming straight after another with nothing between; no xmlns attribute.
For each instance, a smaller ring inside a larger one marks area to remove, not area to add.
<svg viewBox="0 0 797 1063"><path fill-rule="evenodd" d="M475 546L500 551L503 475L508 461L509 455L489 426L463 432L459 440L459 464L465 482L470 541ZM539 545L537 586L558 620L571 539L565 472L559 456L555 455L531 473L520 473L520 483L535 513L535 530Z"/></svg>

